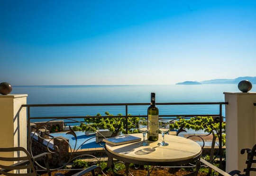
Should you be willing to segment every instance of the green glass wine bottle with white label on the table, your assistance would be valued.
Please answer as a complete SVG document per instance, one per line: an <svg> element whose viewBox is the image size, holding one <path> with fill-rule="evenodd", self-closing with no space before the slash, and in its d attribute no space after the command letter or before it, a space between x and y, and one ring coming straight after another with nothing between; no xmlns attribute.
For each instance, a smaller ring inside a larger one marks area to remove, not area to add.
<svg viewBox="0 0 256 176"><path fill-rule="evenodd" d="M151 93L151 105L147 109L147 121L150 121L150 128L147 132L147 140L157 141L158 140L158 108L155 107L155 93Z"/></svg>

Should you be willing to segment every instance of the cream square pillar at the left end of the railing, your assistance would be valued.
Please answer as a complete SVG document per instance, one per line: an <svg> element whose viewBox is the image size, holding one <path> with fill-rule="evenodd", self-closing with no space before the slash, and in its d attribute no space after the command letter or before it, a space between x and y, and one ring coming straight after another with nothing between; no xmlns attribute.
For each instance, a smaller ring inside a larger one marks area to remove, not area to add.
<svg viewBox="0 0 256 176"><path fill-rule="evenodd" d="M23 104L27 104L27 94L0 95L0 148L27 149L27 110L26 107L21 108ZM18 157L24 156L24 153L8 152L0 155ZM0 164L4 163L0 161Z"/></svg>

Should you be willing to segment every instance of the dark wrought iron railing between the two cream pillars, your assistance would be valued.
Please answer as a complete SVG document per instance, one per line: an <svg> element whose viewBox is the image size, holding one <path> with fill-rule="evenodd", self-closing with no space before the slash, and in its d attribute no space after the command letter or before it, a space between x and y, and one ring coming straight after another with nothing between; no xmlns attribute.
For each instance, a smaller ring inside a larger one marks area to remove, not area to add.
<svg viewBox="0 0 256 176"><path fill-rule="evenodd" d="M179 118L190 118L190 117L219 117L218 122L219 122L219 163L220 163L220 168L223 168L222 165L222 160L223 160L223 149L222 149L222 123L223 123L223 116L222 116L222 105L226 105L228 102L181 102L181 103L156 103L156 105L219 105L219 113L218 114L192 114L192 115L186 115L186 114L176 114L176 115L159 115L160 118L165 117L165 119L171 119L175 120L177 117ZM32 122L35 119L40 119L40 120L45 120L48 122L56 120L56 119L64 119L64 120L69 120L69 122L64 122L64 123L83 123L84 121L78 121L75 119L84 119L84 118L125 118L125 128L126 128L126 133L128 133L128 118L129 117L147 117L146 115L128 115L128 106L141 106L141 105L150 105L150 103L85 103L85 104L27 104L27 105L22 105L22 107L27 107L27 146L30 147L30 152L31 150L31 142L33 141L33 136L31 137L31 128L30 128L30 122ZM84 106L124 106L125 107L125 115L124 116L68 116L68 117L31 117L30 115L30 110L31 107L84 107ZM72 122L73 121L73 122ZM86 124L85 124L86 125ZM45 128L46 129L46 128ZM213 130L213 129L212 129ZM44 137L40 136L40 132L38 129L36 129L36 132L38 134L38 139ZM70 133L73 134L74 137L76 138L76 135L74 134L73 130L70 129ZM46 134L47 135L47 134ZM50 136L53 137L53 136ZM202 138L201 138L202 139ZM53 140L53 139L52 139ZM202 139L203 140L203 139ZM71 147L70 147L71 148ZM73 158L70 158L69 161L73 160L74 158L77 158L77 156L74 156ZM39 165L39 164L38 164ZM46 169L43 166L40 166L42 170ZM61 167L60 167L61 168ZM58 168L58 169L60 169Z"/></svg>

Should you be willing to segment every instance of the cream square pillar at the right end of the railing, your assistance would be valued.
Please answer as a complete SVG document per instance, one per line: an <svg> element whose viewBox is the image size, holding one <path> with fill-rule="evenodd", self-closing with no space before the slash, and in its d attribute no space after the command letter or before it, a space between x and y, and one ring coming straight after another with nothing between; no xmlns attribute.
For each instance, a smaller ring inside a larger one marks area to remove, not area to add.
<svg viewBox="0 0 256 176"><path fill-rule="evenodd" d="M224 92L226 105L226 171L246 168L247 154L256 144L256 92Z"/></svg>

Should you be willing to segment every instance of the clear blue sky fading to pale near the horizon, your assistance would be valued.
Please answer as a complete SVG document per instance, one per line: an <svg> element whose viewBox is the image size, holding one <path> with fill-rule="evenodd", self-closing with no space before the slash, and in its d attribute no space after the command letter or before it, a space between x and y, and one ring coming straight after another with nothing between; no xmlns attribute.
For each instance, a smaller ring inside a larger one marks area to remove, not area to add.
<svg viewBox="0 0 256 176"><path fill-rule="evenodd" d="M0 0L0 82L256 76L256 1Z"/></svg>

